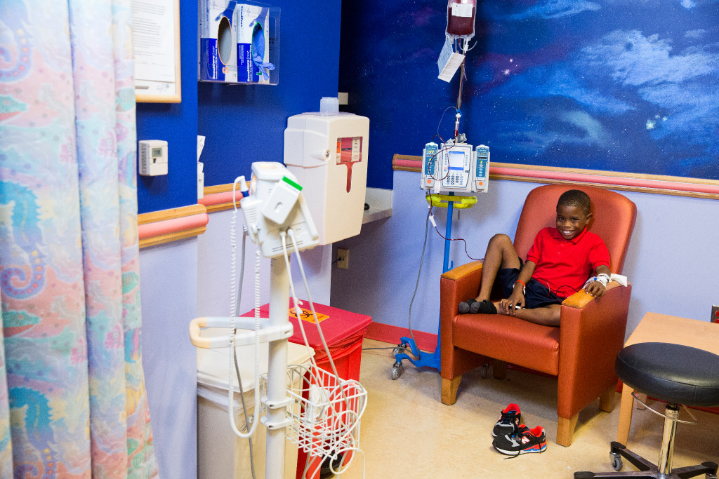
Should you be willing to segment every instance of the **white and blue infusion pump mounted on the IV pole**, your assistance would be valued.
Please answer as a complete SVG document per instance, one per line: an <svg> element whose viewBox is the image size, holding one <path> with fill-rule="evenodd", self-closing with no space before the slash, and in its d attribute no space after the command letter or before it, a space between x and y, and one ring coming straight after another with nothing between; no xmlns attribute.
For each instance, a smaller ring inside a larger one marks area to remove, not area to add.
<svg viewBox="0 0 719 479"><path fill-rule="evenodd" d="M466 143L452 141L425 145L422 152L423 190L487 192L490 172L490 149L480 145L473 149Z"/></svg>

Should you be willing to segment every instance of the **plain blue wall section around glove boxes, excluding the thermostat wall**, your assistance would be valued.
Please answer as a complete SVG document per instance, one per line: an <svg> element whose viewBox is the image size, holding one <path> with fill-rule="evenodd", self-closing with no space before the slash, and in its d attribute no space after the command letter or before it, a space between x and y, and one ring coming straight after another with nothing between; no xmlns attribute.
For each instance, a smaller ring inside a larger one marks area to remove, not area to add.
<svg viewBox="0 0 719 479"><path fill-rule="evenodd" d="M252 162L283 162L287 118L319 111L321 97L337 96L340 3L272 3L282 10L278 85L198 84L206 186L249 177Z"/></svg>

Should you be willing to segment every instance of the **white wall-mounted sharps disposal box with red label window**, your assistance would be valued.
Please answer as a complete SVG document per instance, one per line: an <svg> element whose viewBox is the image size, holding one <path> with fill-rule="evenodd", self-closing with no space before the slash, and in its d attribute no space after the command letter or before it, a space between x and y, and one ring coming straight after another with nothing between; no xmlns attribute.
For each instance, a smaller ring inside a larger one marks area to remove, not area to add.
<svg viewBox="0 0 719 479"><path fill-rule="evenodd" d="M290 116L285 129L285 166L304 187L321 245L359 234L367 190L370 119L339 112L332 99Z"/></svg>

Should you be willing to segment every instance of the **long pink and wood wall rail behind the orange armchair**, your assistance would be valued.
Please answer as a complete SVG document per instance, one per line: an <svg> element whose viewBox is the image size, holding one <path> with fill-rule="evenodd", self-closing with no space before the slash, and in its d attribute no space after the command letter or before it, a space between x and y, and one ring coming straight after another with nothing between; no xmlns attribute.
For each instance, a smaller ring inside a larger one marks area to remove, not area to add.
<svg viewBox="0 0 719 479"><path fill-rule="evenodd" d="M397 171L421 172L422 157L395 154ZM605 172L595 169L540 167L531 164L490 163L490 179L544 184L585 183L608 190L638 191L719 200L719 181L637 173Z"/></svg>

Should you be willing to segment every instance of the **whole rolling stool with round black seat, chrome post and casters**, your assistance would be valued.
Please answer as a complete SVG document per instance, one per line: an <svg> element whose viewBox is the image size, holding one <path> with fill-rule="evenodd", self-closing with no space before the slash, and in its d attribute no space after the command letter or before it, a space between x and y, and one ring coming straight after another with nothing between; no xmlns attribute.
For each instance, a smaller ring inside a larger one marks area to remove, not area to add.
<svg viewBox="0 0 719 479"><path fill-rule="evenodd" d="M685 479L704 475L717 479L718 465L702 462L684 468L672 469L674 439L677 423L696 424L678 419L679 404L687 406L716 406L719 404L719 355L689 346L669 343L638 343L619 352L615 370L619 378L636 391L667 401L659 460L656 465L628 450L620 442L612 442L610 460L612 468L623 468L622 458L638 471L612 473L574 473L574 479L588 478L656 478ZM636 398L636 396L635 396ZM691 413L690 413L691 415Z"/></svg>

